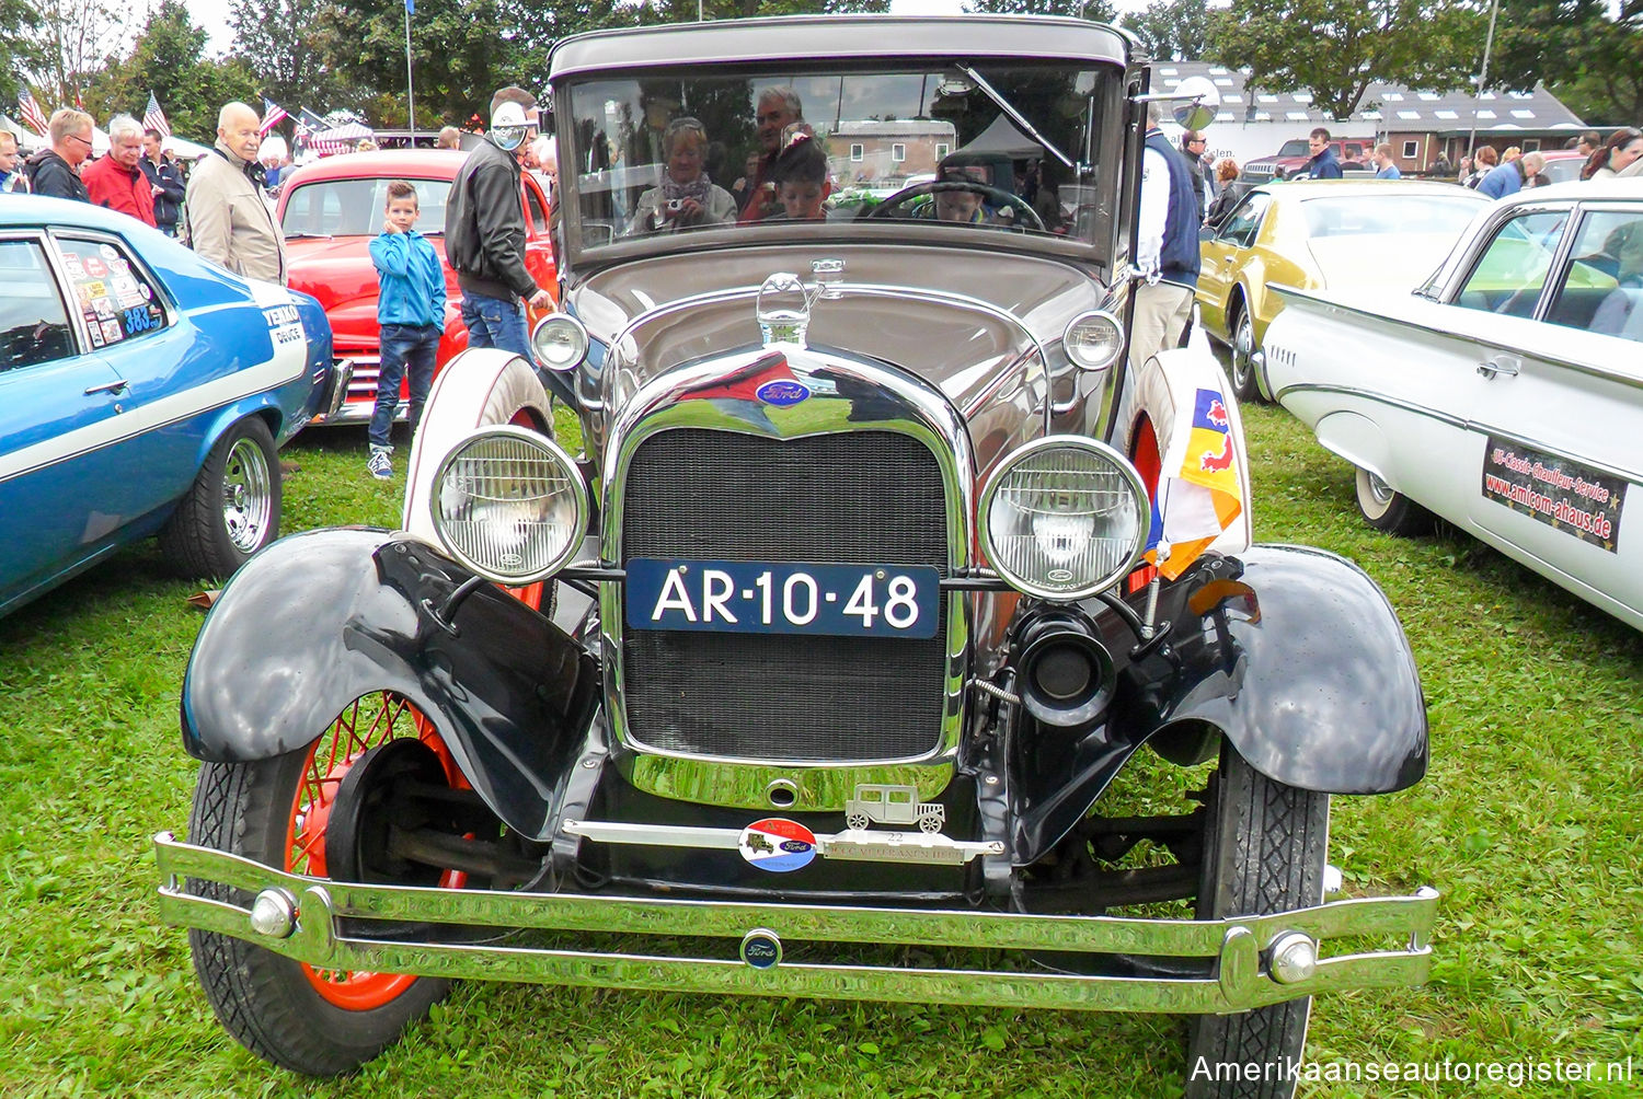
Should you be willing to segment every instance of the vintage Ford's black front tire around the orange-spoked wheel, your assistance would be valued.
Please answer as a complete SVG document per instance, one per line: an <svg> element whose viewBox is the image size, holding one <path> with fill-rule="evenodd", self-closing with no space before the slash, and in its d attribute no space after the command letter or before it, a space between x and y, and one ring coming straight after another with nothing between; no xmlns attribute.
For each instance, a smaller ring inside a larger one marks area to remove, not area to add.
<svg viewBox="0 0 1643 1099"><path fill-rule="evenodd" d="M375 705L375 711L363 713L381 715L389 713L389 706L398 706L386 720L386 733L370 734L376 744L399 734L416 734L414 716L404 718L407 710L401 700L384 693L376 697ZM358 718L361 703L350 710ZM312 867L292 862L288 830L292 826L292 813L309 808L299 807L297 797L311 761L315 761L314 774L338 774L335 757L324 772L319 770L319 761L325 759L327 744L342 736L338 729L348 721L348 713L343 711L332 731L306 749L248 764L200 767L194 812L189 816L191 841L265 866L312 872ZM350 729L355 724L357 721L348 721ZM319 752L314 751L315 746ZM352 756L353 749L347 752ZM319 848L324 848L322 841ZM251 902L246 890L220 882L191 882L191 889L202 897L240 907ZM189 931L189 946L205 999L223 1028L251 1053L307 1076L338 1076L358 1069L393 1045L407 1025L422 1019L450 989L450 982L442 979L403 977L399 981L407 984L391 997L381 997L381 1005L340 1007L315 987L322 974L261 946L197 928ZM337 977L335 987L342 987L340 982L353 977L370 979L380 974L324 976Z"/></svg>

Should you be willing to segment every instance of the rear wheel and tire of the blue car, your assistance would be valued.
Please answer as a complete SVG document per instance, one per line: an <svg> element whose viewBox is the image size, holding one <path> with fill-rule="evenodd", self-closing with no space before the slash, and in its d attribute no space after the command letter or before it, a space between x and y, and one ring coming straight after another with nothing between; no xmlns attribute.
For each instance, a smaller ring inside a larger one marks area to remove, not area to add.
<svg viewBox="0 0 1643 1099"><path fill-rule="evenodd" d="M230 427L159 531L159 549L189 577L227 580L279 537L279 455L261 417Z"/></svg>

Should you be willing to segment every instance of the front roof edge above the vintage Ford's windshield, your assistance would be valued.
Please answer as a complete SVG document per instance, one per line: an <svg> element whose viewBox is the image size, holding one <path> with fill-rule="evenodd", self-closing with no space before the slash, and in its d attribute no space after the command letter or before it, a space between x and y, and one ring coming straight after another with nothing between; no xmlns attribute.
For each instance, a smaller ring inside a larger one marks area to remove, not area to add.
<svg viewBox="0 0 1643 1099"><path fill-rule="evenodd" d="M899 16L838 15L672 23L587 31L554 44L550 82L583 72L685 64L767 67L820 57L973 56L1042 61L1068 57L1124 64L1130 38L1122 31L1060 16Z"/></svg>

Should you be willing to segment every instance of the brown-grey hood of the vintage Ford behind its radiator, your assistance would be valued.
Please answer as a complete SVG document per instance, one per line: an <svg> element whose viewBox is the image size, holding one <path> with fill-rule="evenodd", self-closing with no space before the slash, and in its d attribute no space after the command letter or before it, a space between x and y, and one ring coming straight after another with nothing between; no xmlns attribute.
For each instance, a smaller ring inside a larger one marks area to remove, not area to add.
<svg viewBox="0 0 1643 1099"><path fill-rule="evenodd" d="M1058 343L1068 322L1106 296L1063 260L871 245L652 258L595 274L572 291L570 307L610 347L605 384L608 394L618 388L619 404L621 391L674 366L757 347L757 287L779 271L808 279L813 260L841 260L846 289L815 302L810 345L914 371L966 414L1002 375L1025 373L1035 342Z"/></svg>

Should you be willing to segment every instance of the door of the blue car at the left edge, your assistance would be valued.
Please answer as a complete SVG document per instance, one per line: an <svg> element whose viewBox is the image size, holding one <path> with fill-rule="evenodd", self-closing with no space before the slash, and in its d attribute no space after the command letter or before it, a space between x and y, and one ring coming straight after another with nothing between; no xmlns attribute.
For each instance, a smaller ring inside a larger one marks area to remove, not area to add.
<svg viewBox="0 0 1643 1099"><path fill-rule="evenodd" d="M44 230L0 235L0 611L117 545L131 519L89 283Z"/></svg>

